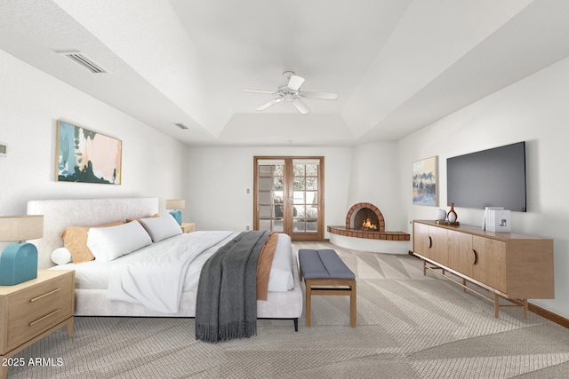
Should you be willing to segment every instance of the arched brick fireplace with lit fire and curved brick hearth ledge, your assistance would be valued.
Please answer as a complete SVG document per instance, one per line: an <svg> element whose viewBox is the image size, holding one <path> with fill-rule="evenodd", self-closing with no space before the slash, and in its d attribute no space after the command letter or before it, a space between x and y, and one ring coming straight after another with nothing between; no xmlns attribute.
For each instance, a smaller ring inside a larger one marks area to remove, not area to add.
<svg viewBox="0 0 569 379"><path fill-rule="evenodd" d="M374 227L370 225L374 225ZM368 240L411 240L409 233L386 232L385 218L381 214L381 210L369 202L358 202L354 204L348 210L345 225L328 226L328 232Z"/></svg>

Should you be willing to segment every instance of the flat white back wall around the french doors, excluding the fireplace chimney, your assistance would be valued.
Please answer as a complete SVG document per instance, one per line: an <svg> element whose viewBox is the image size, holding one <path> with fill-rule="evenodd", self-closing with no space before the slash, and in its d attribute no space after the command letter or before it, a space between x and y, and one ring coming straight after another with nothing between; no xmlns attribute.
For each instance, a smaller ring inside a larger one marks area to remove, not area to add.
<svg viewBox="0 0 569 379"><path fill-rule="evenodd" d="M325 225L343 225L351 151L350 147L190 147L184 213L198 230L252 227L253 156L324 156Z"/></svg>

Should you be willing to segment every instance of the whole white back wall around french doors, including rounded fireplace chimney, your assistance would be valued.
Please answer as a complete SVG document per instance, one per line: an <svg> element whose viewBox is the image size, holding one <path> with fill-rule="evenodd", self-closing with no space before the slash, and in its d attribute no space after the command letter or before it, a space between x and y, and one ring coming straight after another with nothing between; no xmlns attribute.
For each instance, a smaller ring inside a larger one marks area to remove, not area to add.
<svg viewBox="0 0 569 379"><path fill-rule="evenodd" d="M395 142L349 147L190 147L189 213L200 230L252 226L253 156L324 156L325 226L344 225L360 201L381 209L386 229L406 230ZM249 188L250 193L246 193ZM221 206L217 206L217 203ZM404 229L402 229L404 228ZM325 231L325 238L329 233Z"/></svg>

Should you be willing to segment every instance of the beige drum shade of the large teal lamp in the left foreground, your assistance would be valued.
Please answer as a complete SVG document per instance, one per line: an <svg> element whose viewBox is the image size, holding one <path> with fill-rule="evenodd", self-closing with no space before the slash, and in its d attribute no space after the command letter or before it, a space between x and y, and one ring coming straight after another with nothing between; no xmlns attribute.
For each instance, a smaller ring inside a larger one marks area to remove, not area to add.
<svg viewBox="0 0 569 379"><path fill-rule="evenodd" d="M27 241L44 236L44 215L0 217L0 241Z"/></svg>

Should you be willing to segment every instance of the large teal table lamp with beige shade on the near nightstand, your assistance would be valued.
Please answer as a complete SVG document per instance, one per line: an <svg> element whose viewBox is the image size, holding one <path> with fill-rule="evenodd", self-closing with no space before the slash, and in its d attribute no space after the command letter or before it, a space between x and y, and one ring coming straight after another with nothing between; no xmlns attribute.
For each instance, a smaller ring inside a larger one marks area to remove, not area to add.
<svg viewBox="0 0 569 379"><path fill-rule="evenodd" d="M0 241L13 242L0 256L0 286L37 278L37 248L24 242L44 236L44 216L0 217Z"/></svg>

